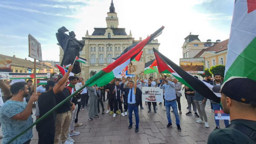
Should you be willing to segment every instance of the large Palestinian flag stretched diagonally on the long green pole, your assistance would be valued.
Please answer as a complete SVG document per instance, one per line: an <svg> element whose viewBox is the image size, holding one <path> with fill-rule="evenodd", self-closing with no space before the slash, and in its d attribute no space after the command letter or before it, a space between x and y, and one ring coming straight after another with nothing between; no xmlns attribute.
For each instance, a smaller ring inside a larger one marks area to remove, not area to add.
<svg viewBox="0 0 256 144"><path fill-rule="evenodd" d="M125 49L125 51L118 57L115 58L115 61L106 68L102 69L89 80L86 81L87 86L93 86L97 84L98 86L104 86L108 84L115 76L117 76L132 59L134 59L143 49L143 47L150 43L154 38L162 33L164 27L162 26L156 32L151 34L145 40L140 43L133 44Z"/></svg>

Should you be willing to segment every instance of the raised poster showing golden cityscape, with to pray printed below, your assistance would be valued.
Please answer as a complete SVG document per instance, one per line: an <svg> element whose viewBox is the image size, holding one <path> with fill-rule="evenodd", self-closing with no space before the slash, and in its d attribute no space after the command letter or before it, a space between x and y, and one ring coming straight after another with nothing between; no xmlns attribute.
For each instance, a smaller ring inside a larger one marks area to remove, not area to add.
<svg viewBox="0 0 256 144"><path fill-rule="evenodd" d="M204 58L180 58L180 67L191 74L203 74L204 61Z"/></svg>

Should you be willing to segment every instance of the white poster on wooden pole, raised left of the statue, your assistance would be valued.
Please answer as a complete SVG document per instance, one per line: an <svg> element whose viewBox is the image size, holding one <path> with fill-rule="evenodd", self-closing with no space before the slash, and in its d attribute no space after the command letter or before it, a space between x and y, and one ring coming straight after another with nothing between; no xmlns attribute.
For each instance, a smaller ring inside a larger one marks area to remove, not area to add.
<svg viewBox="0 0 256 144"><path fill-rule="evenodd" d="M42 61L41 44L32 36L28 35L29 57Z"/></svg>

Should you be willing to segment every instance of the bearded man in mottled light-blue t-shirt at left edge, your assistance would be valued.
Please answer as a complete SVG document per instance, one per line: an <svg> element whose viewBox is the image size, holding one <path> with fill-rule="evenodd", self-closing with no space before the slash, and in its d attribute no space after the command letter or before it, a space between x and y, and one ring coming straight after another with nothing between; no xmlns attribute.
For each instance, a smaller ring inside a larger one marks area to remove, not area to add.
<svg viewBox="0 0 256 144"><path fill-rule="evenodd" d="M14 136L32 125L32 106L33 102L38 100L38 95L32 94L28 103L24 101L24 98L28 95L28 85L25 82L17 82L10 89L1 88L6 97L12 97L0 108L0 122L3 132L2 143L7 143ZM32 129L30 129L14 140L13 143L29 144L32 137Z"/></svg>

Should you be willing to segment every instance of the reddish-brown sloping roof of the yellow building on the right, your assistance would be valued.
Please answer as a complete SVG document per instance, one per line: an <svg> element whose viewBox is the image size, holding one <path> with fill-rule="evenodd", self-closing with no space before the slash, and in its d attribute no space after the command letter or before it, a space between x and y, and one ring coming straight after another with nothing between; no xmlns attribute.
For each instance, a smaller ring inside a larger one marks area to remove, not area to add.
<svg viewBox="0 0 256 144"><path fill-rule="evenodd" d="M226 49L228 49L228 40L229 40L229 39L226 39L226 40L224 40L224 41L222 41L222 42L215 43L215 45L213 45L213 46L211 46L211 47L202 49L202 51L200 51L196 56L194 56L194 58L201 57L201 55L202 55L204 52L215 52L215 53L219 53L219 52L225 51Z"/></svg>

